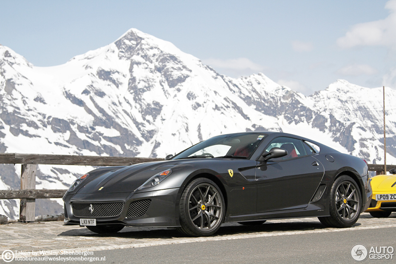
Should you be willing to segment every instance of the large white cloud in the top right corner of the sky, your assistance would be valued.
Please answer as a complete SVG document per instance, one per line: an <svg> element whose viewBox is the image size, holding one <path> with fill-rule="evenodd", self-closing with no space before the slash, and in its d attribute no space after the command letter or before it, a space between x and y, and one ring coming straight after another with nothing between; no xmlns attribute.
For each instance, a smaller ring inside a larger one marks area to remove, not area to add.
<svg viewBox="0 0 396 264"><path fill-rule="evenodd" d="M354 46L396 47L396 0L385 5L390 14L385 19L354 25L345 36L337 39L342 48Z"/></svg>

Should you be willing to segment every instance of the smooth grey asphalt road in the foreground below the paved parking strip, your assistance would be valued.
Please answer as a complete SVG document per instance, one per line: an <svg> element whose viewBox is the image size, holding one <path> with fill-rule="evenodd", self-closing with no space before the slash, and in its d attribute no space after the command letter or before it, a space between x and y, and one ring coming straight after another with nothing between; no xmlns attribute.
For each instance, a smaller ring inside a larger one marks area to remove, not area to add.
<svg viewBox="0 0 396 264"><path fill-rule="evenodd" d="M356 244L370 247L396 248L396 228L369 230L340 229L339 232L291 234L285 236L204 241L158 245L131 249L93 251L86 257L105 258L103 261L66 261L66 263L358 263L350 251ZM396 255L396 252L394 253ZM37 261L29 263L59 263ZM392 260L367 258L362 263L395 263ZM27 262L12 262L27 263Z"/></svg>

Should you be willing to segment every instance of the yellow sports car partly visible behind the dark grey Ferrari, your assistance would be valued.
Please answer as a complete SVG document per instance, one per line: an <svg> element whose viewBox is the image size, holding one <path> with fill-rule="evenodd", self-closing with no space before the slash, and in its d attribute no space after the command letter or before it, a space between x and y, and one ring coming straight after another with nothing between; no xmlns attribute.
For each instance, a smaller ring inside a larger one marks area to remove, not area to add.
<svg viewBox="0 0 396 264"><path fill-rule="evenodd" d="M393 175L377 175L370 179L373 196L366 212L373 217L388 217L396 212L396 169L389 172Z"/></svg>

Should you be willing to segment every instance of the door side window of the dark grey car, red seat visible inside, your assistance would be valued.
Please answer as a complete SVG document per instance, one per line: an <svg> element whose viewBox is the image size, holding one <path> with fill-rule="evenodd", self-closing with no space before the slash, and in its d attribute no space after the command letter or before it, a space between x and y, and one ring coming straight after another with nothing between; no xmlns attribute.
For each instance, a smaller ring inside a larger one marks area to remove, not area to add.
<svg viewBox="0 0 396 264"><path fill-rule="evenodd" d="M288 159L312 154L312 150L311 153L309 152L307 153L306 147L308 146L305 145L303 141L299 139L293 139L290 137L277 137L268 145L265 151L269 152L271 148L275 148L275 147L283 148L284 150L287 151L287 155L281 158L272 159L273 161L288 160Z"/></svg>

